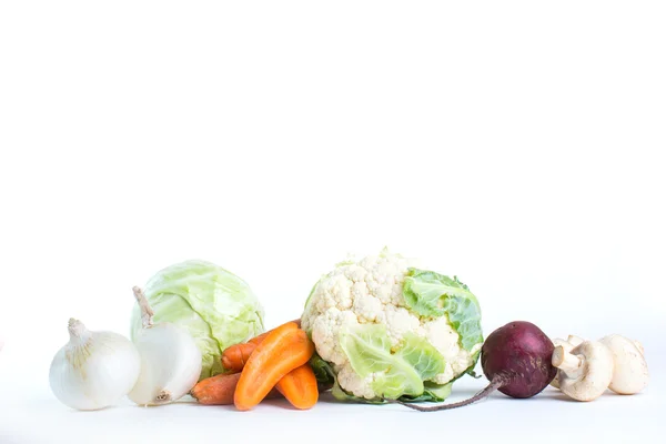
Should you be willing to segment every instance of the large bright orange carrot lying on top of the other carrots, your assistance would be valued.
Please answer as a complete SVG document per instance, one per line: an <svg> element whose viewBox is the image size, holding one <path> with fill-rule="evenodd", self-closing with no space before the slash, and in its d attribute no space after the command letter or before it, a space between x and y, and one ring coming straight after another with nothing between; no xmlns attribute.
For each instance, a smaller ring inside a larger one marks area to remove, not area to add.
<svg viewBox="0 0 666 444"><path fill-rule="evenodd" d="M236 408L254 407L284 375L305 364L313 353L314 344L295 322L269 332L241 372L233 397Z"/></svg>

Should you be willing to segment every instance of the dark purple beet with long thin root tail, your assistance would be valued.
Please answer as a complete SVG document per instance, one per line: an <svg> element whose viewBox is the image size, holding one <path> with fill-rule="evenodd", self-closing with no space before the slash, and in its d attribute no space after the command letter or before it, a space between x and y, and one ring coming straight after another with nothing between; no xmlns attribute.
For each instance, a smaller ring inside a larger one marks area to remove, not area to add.
<svg viewBox="0 0 666 444"><path fill-rule="evenodd" d="M491 381L488 386L473 397L453 404L422 407L400 402L421 412L457 408L483 397L495 390L512 397L532 397L541 393L557 373L551 363L553 342L536 325L515 321L491 333L481 349L481 366Z"/></svg>

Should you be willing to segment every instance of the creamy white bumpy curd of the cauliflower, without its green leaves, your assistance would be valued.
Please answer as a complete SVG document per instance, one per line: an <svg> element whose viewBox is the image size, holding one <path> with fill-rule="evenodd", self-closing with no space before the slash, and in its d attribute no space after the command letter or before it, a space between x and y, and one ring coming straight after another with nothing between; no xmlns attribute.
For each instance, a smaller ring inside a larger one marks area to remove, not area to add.
<svg viewBox="0 0 666 444"><path fill-rule="evenodd" d="M385 251L357 263L345 262L322 278L310 296L301 317L303 327L311 331L319 355L333 364L340 386L355 396L377 396L371 387L376 374L362 377L354 372L339 341L343 329L384 324L392 352L402 346L406 333L425 337L446 362L444 372L432 379L440 384L474 363L481 344L467 352L460 346L460 336L446 316L420 316L406 305L403 284L413 265L413 261Z"/></svg>

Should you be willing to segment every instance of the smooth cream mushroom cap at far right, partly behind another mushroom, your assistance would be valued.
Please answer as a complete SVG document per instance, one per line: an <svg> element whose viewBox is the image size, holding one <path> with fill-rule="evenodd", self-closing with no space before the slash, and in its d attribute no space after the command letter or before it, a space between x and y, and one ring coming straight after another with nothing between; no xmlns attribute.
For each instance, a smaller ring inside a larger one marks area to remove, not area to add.
<svg viewBox="0 0 666 444"><path fill-rule="evenodd" d="M602 337L601 343L613 353L614 371L608 389L622 395L640 392L649 381L647 362L635 341L619 334Z"/></svg>

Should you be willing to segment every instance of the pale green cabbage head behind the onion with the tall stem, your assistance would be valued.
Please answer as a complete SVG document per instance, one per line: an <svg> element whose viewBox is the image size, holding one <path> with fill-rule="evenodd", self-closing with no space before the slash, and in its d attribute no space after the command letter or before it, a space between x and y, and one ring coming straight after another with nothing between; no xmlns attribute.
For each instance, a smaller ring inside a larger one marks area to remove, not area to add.
<svg viewBox="0 0 666 444"><path fill-rule="evenodd" d="M184 327L201 350L200 379L223 373L222 351L264 332L263 307L239 276L204 261L185 261L159 271L143 289L153 322ZM135 304L132 340L141 330Z"/></svg>

